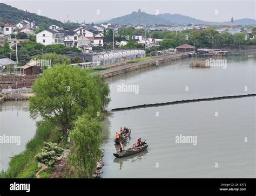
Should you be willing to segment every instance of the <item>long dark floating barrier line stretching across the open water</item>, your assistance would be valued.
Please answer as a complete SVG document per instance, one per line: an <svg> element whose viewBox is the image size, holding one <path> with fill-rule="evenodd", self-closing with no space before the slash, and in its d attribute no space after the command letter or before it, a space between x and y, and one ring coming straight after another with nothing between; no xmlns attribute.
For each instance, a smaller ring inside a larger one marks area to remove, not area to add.
<svg viewBox="0 0 256 196"><path fill-rule="evenodd" d="M256 94L247 94L247 95L233 95L233 96L219 96L219 97L210 97L210 98L202 98L202 99L194 99L194 100L180 100L180 101L172 101L166 103L154 103L154 104L143 104L138 106L124 107L124 108L114 108L111 111L122 111L122 110L130 110L137 108L149 108L149 107L158 107L158 106L168 106L180 103L192 103L192 102L200 102L200 101L214 101L214 100L224 100L224 99L237 99L242 97L250 97L256 96Z"/></svg>

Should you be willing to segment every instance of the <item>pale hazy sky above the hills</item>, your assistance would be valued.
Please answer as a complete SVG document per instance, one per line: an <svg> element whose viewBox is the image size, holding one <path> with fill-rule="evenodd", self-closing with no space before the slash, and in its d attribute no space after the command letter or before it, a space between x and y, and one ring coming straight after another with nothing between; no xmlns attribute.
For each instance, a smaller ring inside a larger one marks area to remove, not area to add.
<svg viewBox="0 0 256 196"><path fill-rule="evenodd" d="M224 22L234 19L255 19L255 0L250 1L173 1L173 0L0 0L2 3L21 10L41 13L42 16L63 21L86 23L103 21L130 14L141 9L146 13L180 13L181 15L206 20ZM0 13L1 15L1 13Z"/></svg>

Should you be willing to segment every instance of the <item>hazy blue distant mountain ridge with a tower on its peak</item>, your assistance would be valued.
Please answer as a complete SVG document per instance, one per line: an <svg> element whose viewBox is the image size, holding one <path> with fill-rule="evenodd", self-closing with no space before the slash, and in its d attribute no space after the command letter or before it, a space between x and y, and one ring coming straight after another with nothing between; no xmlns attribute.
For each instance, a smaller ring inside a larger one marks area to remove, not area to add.
<svg viewBox="0 0 256 196"><path fill-rule="evenodd" d="M180 15L178 13L161 13L159 15L151 15L146 12L138 11L132 12L129 15L112 18L111 20L106 21L111 24L125 24L125 25L154 25L154 24L162 24L162 25L173 25L173 24L205 24L205 25L218 25L218 24L230 24L231 22L207 22L204 20L199 20L196 18L192 18L189 16ZM234 24L242 24L242 25L255 25L256 20L250 18L242 18L238 20L234 20Z"/></svg>

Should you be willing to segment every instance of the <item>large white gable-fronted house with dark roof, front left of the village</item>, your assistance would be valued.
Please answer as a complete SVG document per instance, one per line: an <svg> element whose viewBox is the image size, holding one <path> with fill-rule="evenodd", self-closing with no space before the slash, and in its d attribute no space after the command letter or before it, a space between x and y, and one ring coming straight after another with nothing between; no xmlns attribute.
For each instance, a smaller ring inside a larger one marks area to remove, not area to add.
<svg viewBox="0 0 256 196"><path fill-rule="evenodd" d="M50 29L36 34L36 42L43 45L64 44L64 33Z"/></svg>

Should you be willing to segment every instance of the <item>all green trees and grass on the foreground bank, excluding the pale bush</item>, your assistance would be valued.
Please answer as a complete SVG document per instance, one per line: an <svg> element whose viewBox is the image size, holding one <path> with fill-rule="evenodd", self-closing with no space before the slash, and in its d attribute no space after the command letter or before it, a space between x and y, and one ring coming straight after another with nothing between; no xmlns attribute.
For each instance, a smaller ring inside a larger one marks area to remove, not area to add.
<svg viewBox="0 0 256 196"><path fill-rule="evenodd" d="M42 121L37 122L35 137L26 144L25 151L11 159L9 169L1 172L0 178L58 177L62 164L62 178L99 177L97 169L103 165L99 134L104 108L110 102L110 89L104 79L79 67L55 65L36 79L32 93L30 116L41 117ZM52 157L52 150L42 150L49 143L64 149L66 163ZM44 164L49 166L38 173Z"/></svg>

